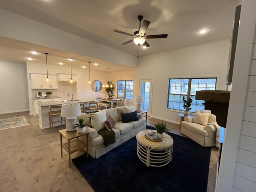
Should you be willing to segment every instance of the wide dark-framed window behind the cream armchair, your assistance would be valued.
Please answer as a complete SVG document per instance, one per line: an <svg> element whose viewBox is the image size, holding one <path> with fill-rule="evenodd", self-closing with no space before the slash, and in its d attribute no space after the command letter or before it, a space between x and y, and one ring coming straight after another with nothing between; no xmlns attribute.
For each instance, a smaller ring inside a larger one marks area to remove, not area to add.
<svg viewBox="0 0 256 192"><path fill-rule="evenodd" d="M168 82L168 109L182 110L183 102L182 96L188 98L192 96L192 104L190 112L204 109L203 100L196 100L196 91L200 90L215 90L217 78L181 78L169 79Z"/></svg>

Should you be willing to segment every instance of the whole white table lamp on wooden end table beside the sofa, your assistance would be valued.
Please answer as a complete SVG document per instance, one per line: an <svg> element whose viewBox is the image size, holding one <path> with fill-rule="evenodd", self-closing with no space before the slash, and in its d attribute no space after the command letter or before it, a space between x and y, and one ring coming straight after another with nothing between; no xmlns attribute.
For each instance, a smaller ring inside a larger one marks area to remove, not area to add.
<svg viewBox="0 0 256 192"><path fill-rule="evenodd" d="M66 130L75 131L76 127L73 128L73 125L76 124L76 117L80 116L81 109L80 103L64 103L61 107L60 116L66 118Z"/></svg>

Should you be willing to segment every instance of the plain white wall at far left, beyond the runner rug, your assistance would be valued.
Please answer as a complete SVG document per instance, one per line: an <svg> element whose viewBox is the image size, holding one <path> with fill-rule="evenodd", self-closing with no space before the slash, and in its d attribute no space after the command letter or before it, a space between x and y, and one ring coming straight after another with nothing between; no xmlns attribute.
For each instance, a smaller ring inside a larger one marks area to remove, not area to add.
<svg viewBox="0 0 256 192"><path fill-rule="evenodd" d="M0 62L0 114L28 111L26 64Z"/></svg>

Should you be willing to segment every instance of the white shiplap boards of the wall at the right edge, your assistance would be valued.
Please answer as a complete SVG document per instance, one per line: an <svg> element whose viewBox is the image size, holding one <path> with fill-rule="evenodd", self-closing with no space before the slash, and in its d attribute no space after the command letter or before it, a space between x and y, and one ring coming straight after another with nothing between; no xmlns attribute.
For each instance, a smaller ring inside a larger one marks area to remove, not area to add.
<svg viewBox="0 0 256 192"><path fill-rule="evenodd" d="M256 192L256 27L252 43L233 192Z"/></svg>

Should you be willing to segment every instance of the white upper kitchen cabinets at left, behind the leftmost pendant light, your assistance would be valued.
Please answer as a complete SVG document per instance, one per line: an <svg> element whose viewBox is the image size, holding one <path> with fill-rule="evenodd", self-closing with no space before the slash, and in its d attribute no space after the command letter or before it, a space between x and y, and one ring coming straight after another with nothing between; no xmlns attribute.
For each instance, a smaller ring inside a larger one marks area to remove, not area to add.
<svg viewBox="0 0 256 192"><path fill-rule="evenodd" d="M48 75L50 81L46 82L47 75L31 74L31 89L58 89L58 76Z"/></svg>

